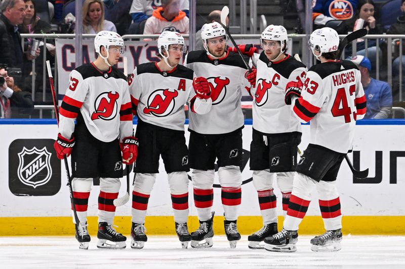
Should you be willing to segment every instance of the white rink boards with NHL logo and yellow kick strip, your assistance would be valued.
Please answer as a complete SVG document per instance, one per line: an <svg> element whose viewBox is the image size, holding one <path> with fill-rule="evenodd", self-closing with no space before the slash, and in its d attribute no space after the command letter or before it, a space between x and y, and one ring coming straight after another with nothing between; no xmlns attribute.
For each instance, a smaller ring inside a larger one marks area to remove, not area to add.
<svg viewBox="0 0 405 269"><path fill-rule="evenodd" d="M252 137L251 121L243 129L244 169L242 179L242 203L238 219L239 231L249 234L262 225L257 192L251 182L249 148ZM134 125L136 128L136 125ZM187 125L185 126L187 129ZM309 125L302 126L300 148L309 142ZM53 140L57 133L54 120L2 120L0 121L0 222L4 230L0 235L60 235L72 234L69 190L66 186L65 167L56 158ZM355 166L369 168L369 178L353 179L344 162L339 171L337 186L342 204L344 233L351 234L405 234L405 122L360 121L354 138L354 152L349 154ZM186 132L188 143L189 133ZM70 164L70 162L69 162ZM358 168L358 167L357 167ZM151 193L146 228L148 234L173 234L174 221L167 174L163 163ZM131 183L133 173L131 173ZM218 179L215 180L218 183ZM121 178L122 196L126 179ZM95 180L89 198L89 230L96 231L97 197L99 188ZM282 216L281 195L275 185L278 198L278 215ZM198 221L189 186L190 230ZM316 192L313 193L307 217L300 226L300 234L323 231ZM223 209L221 190L214 189L216 212L215 233L223 234ZM115 225L118 231L128 234L131 225L131 202L116 208ZM279 223L282 217L279 217ZM281 225L280 225L281 227ZM280 228L279 227L279 228Z"/></svg>

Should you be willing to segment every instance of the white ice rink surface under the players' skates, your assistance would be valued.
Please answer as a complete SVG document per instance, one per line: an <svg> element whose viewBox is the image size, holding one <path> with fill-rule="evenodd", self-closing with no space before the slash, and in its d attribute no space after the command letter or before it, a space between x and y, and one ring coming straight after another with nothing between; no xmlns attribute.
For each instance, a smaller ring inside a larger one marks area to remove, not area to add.
<svg viewBox="0 0 405 269"><path fill-rule="evenodd" d="M175 236L149 236L144 249L79 250L74 237L0 237L0 268L405 268L405 236L344 236L338 252L312 252L300 236L295 253L248 248L242 236L230 249L215 236L209 249L181 249Z"/></svg>

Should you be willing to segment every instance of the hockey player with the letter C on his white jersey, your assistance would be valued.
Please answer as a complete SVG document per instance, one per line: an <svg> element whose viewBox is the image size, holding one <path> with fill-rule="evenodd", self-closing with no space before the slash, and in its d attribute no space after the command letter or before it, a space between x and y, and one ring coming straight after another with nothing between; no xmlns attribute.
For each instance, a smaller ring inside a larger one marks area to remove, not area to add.
<svg viewBox="0 0 405 269"><path fill-rule="evenodd" d="M301 124L286 105L284 93L302 84L307 69L286 53L287 39L283 26L267 26L260 38L263 51L256 57L257 69L247 75L254 87L250 169L263 217L263 228L248 237L249 248L263 248L264 238L278 232L274 179L281 190L284 216L293 189Z"/></svg>

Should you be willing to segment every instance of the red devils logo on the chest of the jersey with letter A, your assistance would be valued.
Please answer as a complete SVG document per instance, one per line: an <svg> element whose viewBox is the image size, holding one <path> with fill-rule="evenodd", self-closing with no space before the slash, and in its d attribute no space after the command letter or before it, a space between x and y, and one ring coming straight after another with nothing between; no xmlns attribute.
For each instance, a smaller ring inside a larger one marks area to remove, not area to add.
<svg viewBox="0 0 405 269"><path fill-rule="evenodd" d="M179 93L176 90L158 89L152 92L148 98L147 107L143 113L151 114L156 117L165 117L172 113L175 107L175 97Z"/></svg>

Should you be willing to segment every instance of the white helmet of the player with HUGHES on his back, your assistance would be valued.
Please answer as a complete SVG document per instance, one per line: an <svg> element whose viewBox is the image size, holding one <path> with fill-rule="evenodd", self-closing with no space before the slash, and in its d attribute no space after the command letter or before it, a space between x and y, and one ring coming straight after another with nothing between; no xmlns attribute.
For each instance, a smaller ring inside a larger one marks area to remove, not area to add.
<svg viewBox="0 0 405 269"><path fill-rule="evenodd" d="M338 50L339 35L334 29L323 27L312 32L308 40L308 45L313 55L319 60L319 56L325 52Z"/></svg>

